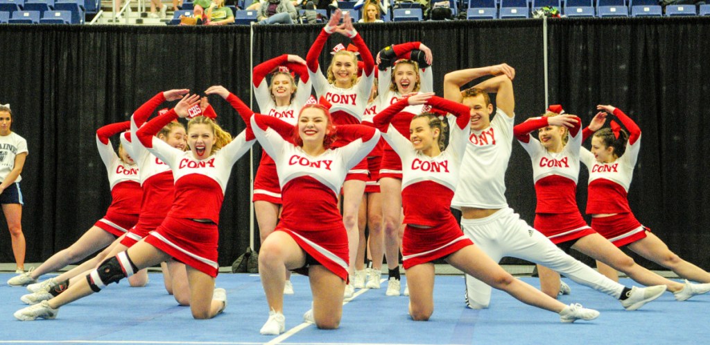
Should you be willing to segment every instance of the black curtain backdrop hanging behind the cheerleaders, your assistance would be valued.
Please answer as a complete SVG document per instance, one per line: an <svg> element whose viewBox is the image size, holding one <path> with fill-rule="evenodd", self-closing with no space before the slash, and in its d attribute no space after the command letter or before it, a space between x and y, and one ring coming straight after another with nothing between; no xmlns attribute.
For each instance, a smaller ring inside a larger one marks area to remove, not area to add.
<svg viewBox="0 0 710 345"><path fill-rule="evenodd" d="M305 58L321 27L255 26L250 56L246 26L0 26L0 102L11 103L13 130L28 140L30 151L21 183L27 260L45 260L66 248L104 215L110 193L96 152L97 128L128 120L155 93L178 87L202 92L224 85L249 103L251 59L256 64L283 53ZM542 21L356 27L373 55L405 41L432 48L439 95L445 73L505 62L516 70L516 122L545 108ZM704 61L710 56L704 39L709 28L706 18L551 20L547 63L550 102L561 103L585 123L599 103L616 105L638 121L643 149L630 191L632 208L672 250L706 269L710 219L704 210L710 199L702 188L706 162L701 154L709 147L701 133L710 106L710 66ZM341 42L349 39L337 34L329 39L322 68L329 63L329 49ZM210 101L226 130L244 129L226 102ZM256 171L258 144L253 151ZM583 168L582 208L586 178ZM532 168L518 144L506 181L510 206L532 224ZM224 198L220 265L229 265L249 246L249 191L246 155L234 167ZM0 223L0 262L12 262L9 233ZM258 242L256 224L254 232Z"/></svg>

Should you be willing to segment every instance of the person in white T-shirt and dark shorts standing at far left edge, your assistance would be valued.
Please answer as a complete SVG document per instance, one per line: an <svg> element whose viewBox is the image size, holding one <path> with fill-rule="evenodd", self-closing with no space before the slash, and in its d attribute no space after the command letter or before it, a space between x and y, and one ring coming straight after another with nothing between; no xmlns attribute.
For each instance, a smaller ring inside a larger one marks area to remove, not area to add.
<svg viewBox="0 0 710 345"><path fill-rule="evenodd" d="M27 158L27 141L12 132L10 105L0 105L0 205L10 230L16 273L25 270L25 235L22 233L20 173Z"/></svg>

